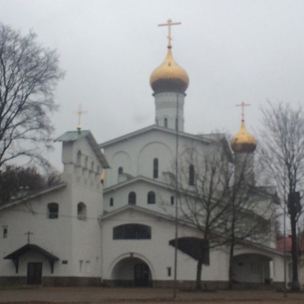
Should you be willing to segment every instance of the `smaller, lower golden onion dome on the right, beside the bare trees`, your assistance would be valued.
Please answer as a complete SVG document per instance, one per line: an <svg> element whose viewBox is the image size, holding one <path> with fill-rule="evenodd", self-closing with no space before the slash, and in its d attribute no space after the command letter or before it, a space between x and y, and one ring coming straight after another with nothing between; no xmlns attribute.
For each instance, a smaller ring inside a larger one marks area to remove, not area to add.
<svg viewBox="0 0 304 304"><path fill-rule="evenodd" d="M241 129L231 140L231 147L236 153L252 153L256 148L255 138L248 133L242 120Z"/></svg>

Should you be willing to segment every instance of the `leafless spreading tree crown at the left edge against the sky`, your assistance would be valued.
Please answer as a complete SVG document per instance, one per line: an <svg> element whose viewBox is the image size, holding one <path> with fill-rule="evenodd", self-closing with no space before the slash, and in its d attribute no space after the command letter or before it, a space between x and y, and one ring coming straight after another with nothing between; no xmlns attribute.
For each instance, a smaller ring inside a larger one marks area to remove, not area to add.
<svg viewBox="0 0 304 304"><path fill-rule="evenodd" d="M39 148L51 145L53 90L63 72L56 51L35 38L0 24L0 167L20 156L45 161Z"/></svg>

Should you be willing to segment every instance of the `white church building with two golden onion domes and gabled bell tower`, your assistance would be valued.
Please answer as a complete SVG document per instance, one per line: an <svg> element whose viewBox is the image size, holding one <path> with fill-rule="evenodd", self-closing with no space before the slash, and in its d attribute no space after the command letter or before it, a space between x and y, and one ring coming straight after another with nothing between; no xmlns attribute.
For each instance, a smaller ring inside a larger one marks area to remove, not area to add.
<svg viewBox="0 0 304 304"><path fill-rule="evenodd" d="M179 239L203 237L192 222L176 224L176 204L182 203L172 184L176 153L179 158L195 145L202 155L220 154L237 167L244 155L253 162L256 142L243 121L231 145L224 134L184 132L188 75L175 62L170 40L150 85L154 125L100 144L90 131L64 133L56 139L62 142L62 182L0 207L0 285L173 285L176 227ZM194 187L196 168L188 169ZM245 173L252 180L252 172ZM272 200L264 194L264 204ZM283 253L272 231L265 239L236 246L235 282L282 286ZM179 286L194 286L196 270L195 255L178 249ZM210 288L227 287L229 245L210 249L201 279Z"/></svg>

